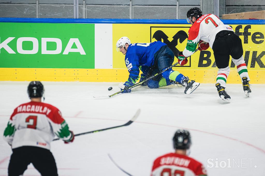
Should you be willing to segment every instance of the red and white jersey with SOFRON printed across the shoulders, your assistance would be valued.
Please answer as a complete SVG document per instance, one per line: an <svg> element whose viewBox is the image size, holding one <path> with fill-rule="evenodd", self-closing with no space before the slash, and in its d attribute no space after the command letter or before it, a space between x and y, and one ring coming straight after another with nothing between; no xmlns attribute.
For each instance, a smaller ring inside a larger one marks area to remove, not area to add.
<svg viewBox="0 0 265 176"><path fill-rule="evenodd" d="M204 166L185 155L169 153L154 160L151 176L197 176L207 175Z"/></svg>

